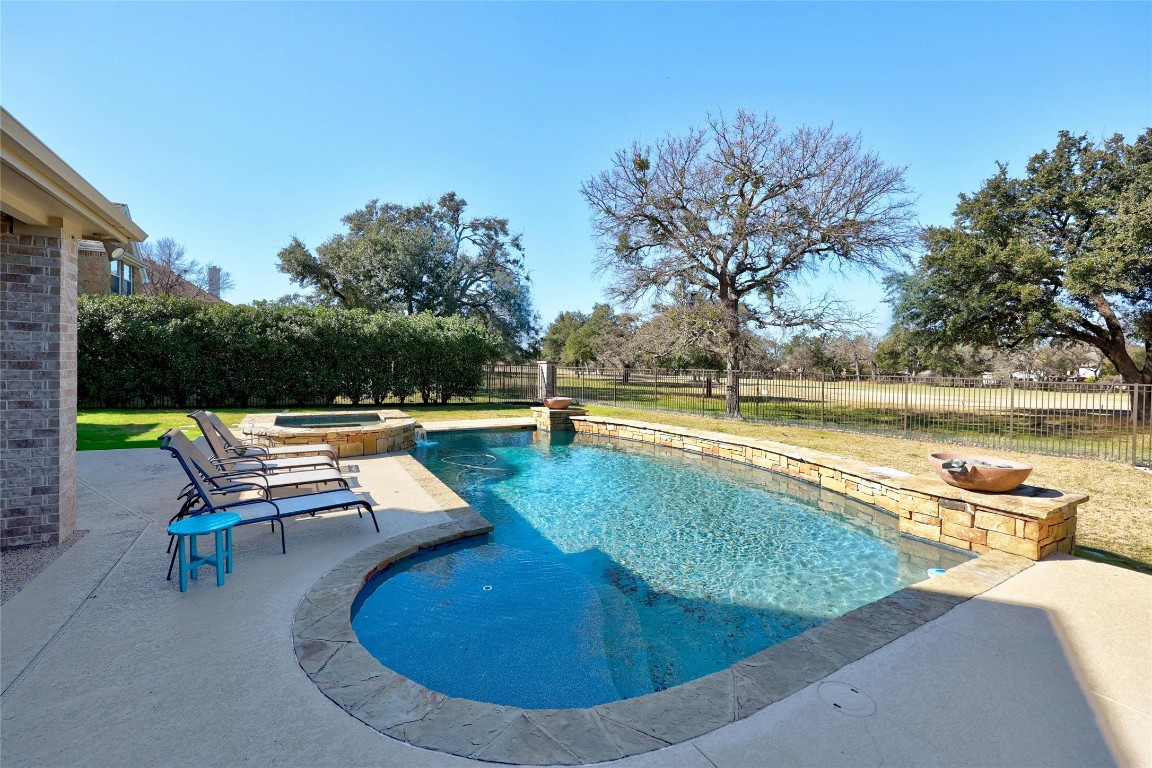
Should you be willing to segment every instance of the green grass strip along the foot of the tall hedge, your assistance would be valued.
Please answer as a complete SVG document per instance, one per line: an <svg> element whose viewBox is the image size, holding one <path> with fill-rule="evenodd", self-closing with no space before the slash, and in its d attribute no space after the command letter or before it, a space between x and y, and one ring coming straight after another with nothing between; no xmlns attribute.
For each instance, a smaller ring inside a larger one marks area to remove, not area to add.
<svg viewBox="0 0 1152 768"><path fill-rule="evenodd" d="M363 411L372 406L305 408L302 411ZM420 421L448 419L488 419L502 416L531 416L526 405L499 403L455 403L452 405L388 405L400 408ZM282 408L221 409L215 411L225 424L236 426L249 413L279 413ZM187 410L145 411L139 409L93 409L76 416L76 449L106 450L118 448L158 448L160 435L174 427L187 429L190 438L199 435L196 423Z"/></svg>

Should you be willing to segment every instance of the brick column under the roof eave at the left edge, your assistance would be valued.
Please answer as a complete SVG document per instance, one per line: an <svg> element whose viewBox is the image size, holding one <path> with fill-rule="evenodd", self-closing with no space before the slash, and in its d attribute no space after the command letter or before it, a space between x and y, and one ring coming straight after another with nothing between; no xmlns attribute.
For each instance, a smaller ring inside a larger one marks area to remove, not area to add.
<svg viewBox="0 0 1152 768"><path fill-rule="evenodd" d="M77 246L0 234L0 549L76 530Z"/></svg>

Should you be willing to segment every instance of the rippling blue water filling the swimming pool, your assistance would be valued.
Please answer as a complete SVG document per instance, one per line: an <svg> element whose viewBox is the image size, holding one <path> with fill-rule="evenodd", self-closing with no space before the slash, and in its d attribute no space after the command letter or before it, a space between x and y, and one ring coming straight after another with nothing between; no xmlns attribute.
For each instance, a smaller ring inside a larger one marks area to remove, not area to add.
<svg viewBox="0 0 1152 768"><path fill-rule="evenodd" d="M495 531L377 576L353 628L384 664L453 697L642 695L967 558L809 484L642 443L460 432L414 455Z"/></svg>

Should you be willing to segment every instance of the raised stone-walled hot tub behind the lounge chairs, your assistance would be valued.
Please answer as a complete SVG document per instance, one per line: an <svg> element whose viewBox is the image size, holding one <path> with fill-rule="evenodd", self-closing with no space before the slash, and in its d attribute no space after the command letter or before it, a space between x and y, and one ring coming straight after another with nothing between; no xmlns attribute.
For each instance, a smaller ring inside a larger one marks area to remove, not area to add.
<svg viewBox="0 0 1152 768"><path fill-rule="evenodd" d="M408 450L416 444L416 419L396 410L250 413L240 431L273 446L325 442L340 458Z"/></svg>

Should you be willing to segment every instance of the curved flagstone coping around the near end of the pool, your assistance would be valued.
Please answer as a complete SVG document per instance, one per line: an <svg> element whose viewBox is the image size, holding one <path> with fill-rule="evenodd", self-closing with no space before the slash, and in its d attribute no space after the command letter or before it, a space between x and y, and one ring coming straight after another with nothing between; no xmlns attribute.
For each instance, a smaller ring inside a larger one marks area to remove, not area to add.
<svg viewBox="0 0 1152 768"><path fill-rule="evenodd" d="M396 458L452 520L393 537L323 576L296 608L296 657L326 697L366 725L414 746L491 762L602 762L687 742L801 691L1032 564L990 552L728 669L632 699L586 709L522 709L457 699L381 664L351 628L353 602L374 575L422 549L492 530L416 459Z"/></svg>

